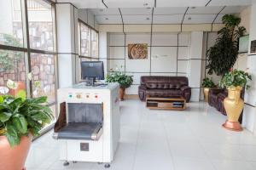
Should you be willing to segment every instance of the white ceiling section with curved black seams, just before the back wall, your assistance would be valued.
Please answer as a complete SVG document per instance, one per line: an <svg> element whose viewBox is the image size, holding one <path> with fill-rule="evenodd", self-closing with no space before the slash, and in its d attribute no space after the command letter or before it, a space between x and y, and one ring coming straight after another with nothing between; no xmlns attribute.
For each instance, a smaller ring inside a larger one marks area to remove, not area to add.
<svg viewBox="0 0 256 170"><path fill-rule="evenodd" d="M224 14L239 14L246 6L166 7L154 8L154 24L212 24L221 23ZM153 8L94 8L99 24L151 24ZM188 10L187 10L188 9ZM186 12L187 11L187 12ZM122 17L121 17L121 14ZM185 14L186 13L186 14Z"/></svg>

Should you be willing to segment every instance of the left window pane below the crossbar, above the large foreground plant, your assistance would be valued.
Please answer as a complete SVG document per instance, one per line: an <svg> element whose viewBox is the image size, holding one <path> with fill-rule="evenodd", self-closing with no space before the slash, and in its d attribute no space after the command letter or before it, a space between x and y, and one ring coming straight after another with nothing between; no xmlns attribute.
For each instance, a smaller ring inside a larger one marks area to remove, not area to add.
<svg viewBox="0 0 256 170"><path fill-rule="evenodd" d="M16 82L17 88L6 93L15 95L26 90L24 53L0 49L0 87L7 87L8 80Z"/></svg>

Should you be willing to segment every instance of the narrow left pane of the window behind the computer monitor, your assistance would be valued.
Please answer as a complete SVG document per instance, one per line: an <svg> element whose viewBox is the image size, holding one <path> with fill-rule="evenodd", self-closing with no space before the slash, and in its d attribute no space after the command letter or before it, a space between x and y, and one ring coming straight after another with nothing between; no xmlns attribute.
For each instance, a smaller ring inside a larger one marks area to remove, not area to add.
<svg viewBox="0 0 256 170"><path fill-rule="evenodd" d="M90 29L80 23L80 55L90 56Z"/></svg>

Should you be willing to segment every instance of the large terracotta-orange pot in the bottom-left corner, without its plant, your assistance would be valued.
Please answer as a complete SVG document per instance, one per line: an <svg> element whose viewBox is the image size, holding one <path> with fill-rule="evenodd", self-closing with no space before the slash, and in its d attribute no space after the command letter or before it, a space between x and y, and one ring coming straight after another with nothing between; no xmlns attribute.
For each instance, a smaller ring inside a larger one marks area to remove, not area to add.
<svg viewBox="0 0 256 170"><path fill-rule="evenodd" d="M10 147L8 139L0 136L0 170L25 169L26 156L32 142L32 135L22 136L20 144Z"/></svg>

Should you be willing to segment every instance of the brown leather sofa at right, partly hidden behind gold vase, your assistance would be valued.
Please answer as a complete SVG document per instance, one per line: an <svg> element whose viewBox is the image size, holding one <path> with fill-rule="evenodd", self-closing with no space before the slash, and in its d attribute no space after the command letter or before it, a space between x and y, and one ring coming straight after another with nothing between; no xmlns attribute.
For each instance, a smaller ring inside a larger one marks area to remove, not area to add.
<svg viewBox="0 0 256 170"><path fill-rule="evenodd" d="M228 96L228 90L225 88L211 88L209 91L209 105L215 107L224 116L227 115L224 109L224 99ZM241 99L244 99L244 89L241 91ZM239 118L241 122L242 114Z"/></svg>

